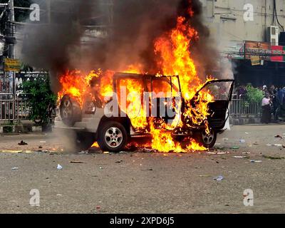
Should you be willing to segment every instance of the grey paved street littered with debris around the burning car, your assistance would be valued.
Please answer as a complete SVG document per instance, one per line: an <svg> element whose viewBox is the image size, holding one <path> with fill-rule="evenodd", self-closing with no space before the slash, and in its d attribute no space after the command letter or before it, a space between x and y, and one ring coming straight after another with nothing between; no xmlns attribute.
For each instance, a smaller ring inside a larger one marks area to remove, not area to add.
<svg viewBox="0 0 285 228"><path fill-rule="evenodd" d="M68 138L61 133L1 136L0 212L285 212L285 140L276 135L285 136L284 125L235 126L209 151L219 155L78 154L61 152ZM224 180L213 180L219 175ZM29 204L32 189L40 192L40 207ZM246 189L254 192L254 207L244 207Z"/></svg>

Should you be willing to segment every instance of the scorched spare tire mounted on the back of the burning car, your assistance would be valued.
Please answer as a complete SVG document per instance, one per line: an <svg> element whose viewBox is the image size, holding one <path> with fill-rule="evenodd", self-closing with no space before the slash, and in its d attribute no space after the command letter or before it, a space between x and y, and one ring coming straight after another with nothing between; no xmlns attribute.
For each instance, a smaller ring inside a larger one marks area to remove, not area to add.
<svg viewBox="0 0 285 228"><path fill-rule="evenodd" d="M61 119L65 125L72 127L76 122L81 121L81 106L69 95L64 95L61 99L60 111Z"/></svg>

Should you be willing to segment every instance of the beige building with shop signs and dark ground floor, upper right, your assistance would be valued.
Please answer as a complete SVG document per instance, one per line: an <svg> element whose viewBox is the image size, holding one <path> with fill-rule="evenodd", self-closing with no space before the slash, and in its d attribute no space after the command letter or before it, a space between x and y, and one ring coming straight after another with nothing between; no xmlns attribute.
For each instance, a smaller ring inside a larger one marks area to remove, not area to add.
<svg viewBox="0 0 285 228"><path fill-rule="evenodd" d="M285 86L284 0L201 0L213 43L238 83Z"/></svg>

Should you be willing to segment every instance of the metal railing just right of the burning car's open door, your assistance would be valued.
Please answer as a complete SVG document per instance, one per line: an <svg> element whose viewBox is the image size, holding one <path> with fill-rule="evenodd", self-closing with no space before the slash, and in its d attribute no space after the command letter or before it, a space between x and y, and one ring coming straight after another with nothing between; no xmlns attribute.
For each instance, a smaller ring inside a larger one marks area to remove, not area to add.
<svg viewBox="0 0 285 228"><path fill-rule="evenodd" d="M244 95L233 95L229 105L229 115L232 118L259 118L261 116L261 103L247 103Z"/></svg>

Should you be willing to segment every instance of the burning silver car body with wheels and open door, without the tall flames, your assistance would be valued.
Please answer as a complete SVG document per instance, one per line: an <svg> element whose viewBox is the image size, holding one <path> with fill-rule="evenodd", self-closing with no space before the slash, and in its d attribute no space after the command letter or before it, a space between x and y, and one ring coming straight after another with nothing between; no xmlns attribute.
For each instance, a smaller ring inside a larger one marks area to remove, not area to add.
<svg viewBox="0 0 285 228"><path fill-rule="evenodd" d="M103 151L120 152L141 137L152 138L160 151L185 151L183 140L189 150L206 150L224 128L233 90L233 80L208 80L187 100L179 76L93 72L83 78L89 83L84 98L61 94L57 126L76 131L80 150L97 141ZM103 86L106 78L113 83Z"/></svg>

